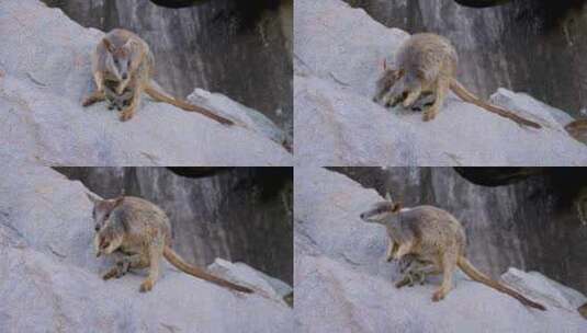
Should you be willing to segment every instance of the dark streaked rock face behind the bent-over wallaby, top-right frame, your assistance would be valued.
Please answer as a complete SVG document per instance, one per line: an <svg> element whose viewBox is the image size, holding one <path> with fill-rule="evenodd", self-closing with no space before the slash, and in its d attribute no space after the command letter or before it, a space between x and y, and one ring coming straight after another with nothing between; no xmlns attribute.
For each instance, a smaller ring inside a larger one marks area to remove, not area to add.
<svg viewBox="0 0 587 333"><path fill-rule="evenodd" d="M587 107L585 0L511 1L484 9L454 1L346 1L386 26L450 38L460 54L459 79L482 96L505 87L574 117Z"/></svg>

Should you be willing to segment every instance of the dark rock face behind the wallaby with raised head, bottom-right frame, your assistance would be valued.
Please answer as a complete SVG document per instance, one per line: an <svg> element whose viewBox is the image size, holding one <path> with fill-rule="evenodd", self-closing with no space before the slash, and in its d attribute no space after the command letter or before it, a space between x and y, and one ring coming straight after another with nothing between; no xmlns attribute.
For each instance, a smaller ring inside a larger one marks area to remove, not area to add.
<svg viewBox="0 0 587 333"><path fill-rule="evenodd" d="M434 205L453 214L466 229L467 255L493 277L513 266L587 291L587 227L573 205L587 186L587 170L540 169L494 187L475 185L452 168L335 170L382 195L390 191L407 207Z"/></svg>

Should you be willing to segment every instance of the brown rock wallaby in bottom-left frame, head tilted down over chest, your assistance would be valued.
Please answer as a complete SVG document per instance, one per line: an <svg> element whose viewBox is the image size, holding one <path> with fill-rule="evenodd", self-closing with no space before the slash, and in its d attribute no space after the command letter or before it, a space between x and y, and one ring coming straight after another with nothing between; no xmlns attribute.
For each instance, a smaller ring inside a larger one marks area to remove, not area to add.
<svg viewBox="0 0 587 333"><path fill-rule="evenodd" d="M97 256L113 254L116 265L103 275L104 279L122 277L131 268L148 268L149 274L140 291L149 291L159 278L159 264L165 256L173 266L195 277L242 292L252 292L225 279L188 264L171 249L169 218L155 204L133 196L99 199L88 194L93 203Z"/></svg>

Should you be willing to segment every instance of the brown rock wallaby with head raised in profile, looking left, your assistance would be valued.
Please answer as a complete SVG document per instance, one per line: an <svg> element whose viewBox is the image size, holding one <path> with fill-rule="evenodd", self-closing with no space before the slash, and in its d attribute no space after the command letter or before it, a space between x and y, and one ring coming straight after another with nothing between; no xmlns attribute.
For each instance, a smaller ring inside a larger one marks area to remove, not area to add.
<svg viewBox="0 0 587 333"><path fill-rule="evenodd" d="M443 299L451 290L452 276L459 267L476 282L505 292L526 306L545 310L544 306L490 279L466 260L464 229L448 211L432 206L402 208L388 197L387 200L376 203L360 217L365 222L380 223L387 229L390 243L392 246L397 244L395 250L388 250L393 259L400 260L407 254L415 254L419 260L429 262L433 266L433 272L427 272L427 274L442 274L442 284L434 292L433 301Z"/></svg>

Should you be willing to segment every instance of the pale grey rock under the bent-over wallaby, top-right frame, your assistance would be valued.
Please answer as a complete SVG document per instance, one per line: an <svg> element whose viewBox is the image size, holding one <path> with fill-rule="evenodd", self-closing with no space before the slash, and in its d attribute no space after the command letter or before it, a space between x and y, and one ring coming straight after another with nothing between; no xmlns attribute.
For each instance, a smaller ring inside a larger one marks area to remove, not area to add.
<svg viewBox="0 0 587 333"><path fill-rule="evenodd" d="M382 64L408 37L340 0L300 0L294 24L296 164L585 165L566 114L526 94L494 100L540 123L530 129L449 96L437 118L371 101ZM501 95L505 95L501 97Z"/></svg>

